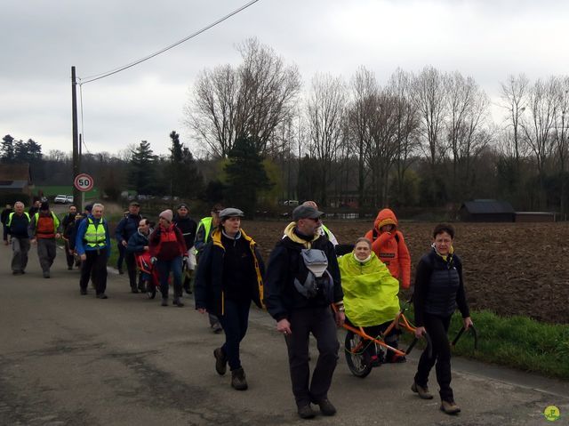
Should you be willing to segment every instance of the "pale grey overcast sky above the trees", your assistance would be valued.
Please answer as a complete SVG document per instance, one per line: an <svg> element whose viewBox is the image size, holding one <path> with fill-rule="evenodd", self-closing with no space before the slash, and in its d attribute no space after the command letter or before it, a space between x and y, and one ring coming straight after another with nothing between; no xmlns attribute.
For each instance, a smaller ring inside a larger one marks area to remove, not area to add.
<svg viewBox="0 0 569 426"><path fill-rule="evenodd" d="M246 0L21 0L2 2L0 133L70 151L71 66L87 77L172 44ZM569 73L569 2L558 0L260 0L135 68L83 85L84 141L117 152L141 140L165 153L204 68L236 64L256 36L301 71L349 80L357 67L384 84L397 67L473 76L496 100L509 74ZM494 115L496 113L494 112ZM80 127L81 129L81 127ZM0 137L1 137L0 136Z"/></svg>

